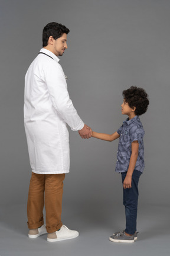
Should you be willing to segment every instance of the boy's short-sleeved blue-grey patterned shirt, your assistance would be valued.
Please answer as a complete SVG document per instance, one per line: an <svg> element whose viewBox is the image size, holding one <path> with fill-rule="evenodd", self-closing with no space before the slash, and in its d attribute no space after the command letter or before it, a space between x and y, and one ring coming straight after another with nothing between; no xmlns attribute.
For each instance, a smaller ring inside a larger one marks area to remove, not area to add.
<svg viewBox="0 0 170 256"><path fill-rule="evenodd" d="M130 156L132 153L132 142L138 140L139 143L139 153L138 159L136 161L135 169L143 172L145 167L144 163L144 145L143 136L145 131L143 130L142 123L139 116L133 117L133 119L126 119L123 121L122 126L117 130L119 133L119 145L117 151L117 162L116 162L116 172L126 172L128 171Z"/></svg>

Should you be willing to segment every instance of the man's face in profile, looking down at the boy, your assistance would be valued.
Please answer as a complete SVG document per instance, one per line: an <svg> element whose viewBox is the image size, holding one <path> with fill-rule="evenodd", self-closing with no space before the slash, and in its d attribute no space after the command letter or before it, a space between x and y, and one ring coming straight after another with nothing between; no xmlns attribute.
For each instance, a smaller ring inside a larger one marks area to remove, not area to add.
<svg viewBox="0 0 170 256"><path fill-rule="evenodd" d="M53 53L56 56L62 56L64 53L64 50L67 49L67 34L63 34L58 39L54 40L53 44Z"/></svg>

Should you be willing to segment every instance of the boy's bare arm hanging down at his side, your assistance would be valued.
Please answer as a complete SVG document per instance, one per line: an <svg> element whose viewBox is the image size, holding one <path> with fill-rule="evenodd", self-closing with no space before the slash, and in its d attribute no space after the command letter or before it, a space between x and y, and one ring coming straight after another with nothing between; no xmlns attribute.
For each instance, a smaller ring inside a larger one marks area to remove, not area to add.
<svg viewBox="0 0 170 256"><path fill-rule="evenodd" d="M130 156L129 168L126 174L125 180L123 181L123 188L132 187L132 174L135 169L136 161L138 159L139 143L138 140L132 142L132 153Z"/></svg>

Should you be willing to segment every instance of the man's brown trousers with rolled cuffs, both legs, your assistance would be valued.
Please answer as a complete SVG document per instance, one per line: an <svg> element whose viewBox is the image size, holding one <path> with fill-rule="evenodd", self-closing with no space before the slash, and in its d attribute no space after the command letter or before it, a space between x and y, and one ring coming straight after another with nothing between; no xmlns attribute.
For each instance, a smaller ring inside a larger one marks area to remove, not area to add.
<svg viewBox="0 0 170 256"><path fill-rule="evenodd" d="M32 172L28 193L28 228L37 229L44 224L45 202L46 228L53 233L61 228L63 181L65 174L35 174Z"/></svg>

